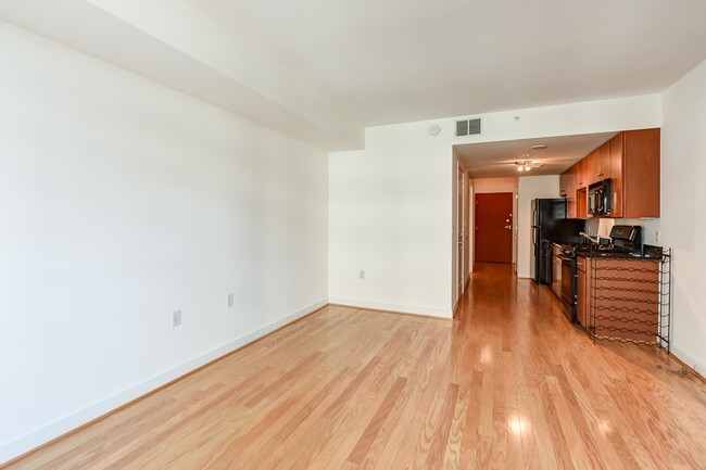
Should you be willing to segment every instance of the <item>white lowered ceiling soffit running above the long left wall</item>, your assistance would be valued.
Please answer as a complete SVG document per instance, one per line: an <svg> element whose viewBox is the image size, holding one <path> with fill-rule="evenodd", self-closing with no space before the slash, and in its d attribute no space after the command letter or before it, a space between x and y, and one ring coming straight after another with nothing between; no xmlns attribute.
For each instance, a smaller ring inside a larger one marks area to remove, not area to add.
<svg viewBox="0 0 706 470"><path fill-rule="evenodd" d="M317 148L363 145L363 126L349 110L301 82L204 3L0 1L0 18Z"/></svg>

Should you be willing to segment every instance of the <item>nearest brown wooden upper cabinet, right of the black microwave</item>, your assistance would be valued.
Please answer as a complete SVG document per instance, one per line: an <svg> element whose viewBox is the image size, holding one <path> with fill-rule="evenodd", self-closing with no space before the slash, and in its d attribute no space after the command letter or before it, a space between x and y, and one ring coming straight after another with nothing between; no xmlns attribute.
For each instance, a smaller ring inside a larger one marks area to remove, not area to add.
<svg viewBox="0 0 706 470"><path fill-rule="evenodd" d="M659 217L659 129L627 130L607 144L612 217Z"/></svg>

